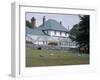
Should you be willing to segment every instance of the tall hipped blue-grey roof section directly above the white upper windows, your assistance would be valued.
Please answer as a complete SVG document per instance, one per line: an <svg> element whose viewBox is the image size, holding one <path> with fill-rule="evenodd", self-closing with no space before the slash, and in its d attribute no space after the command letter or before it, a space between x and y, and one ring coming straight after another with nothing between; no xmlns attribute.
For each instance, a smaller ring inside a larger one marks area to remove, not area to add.
<svg viewBox="0 0 100 80"><path fill-rule="evenodd" d="M43 30L56 30L56 31L65 31L67 32L67 29L58 23L56 20L49 19L45 22L45 26L40 25L39 28L42 28Z"/></svg>

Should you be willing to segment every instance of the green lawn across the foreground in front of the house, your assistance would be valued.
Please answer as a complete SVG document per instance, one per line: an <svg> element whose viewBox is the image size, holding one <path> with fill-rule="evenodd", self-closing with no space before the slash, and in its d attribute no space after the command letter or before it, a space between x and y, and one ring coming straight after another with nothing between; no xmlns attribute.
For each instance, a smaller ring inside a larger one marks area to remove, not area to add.
<svg viewBox="0 0 100 80"><path fill-rule="evenodd" d="M57 50L26 48L26 67L89 64L89 55Z"/></svg>

